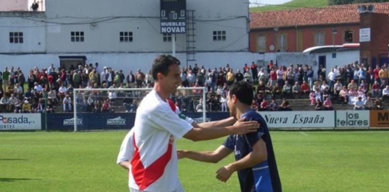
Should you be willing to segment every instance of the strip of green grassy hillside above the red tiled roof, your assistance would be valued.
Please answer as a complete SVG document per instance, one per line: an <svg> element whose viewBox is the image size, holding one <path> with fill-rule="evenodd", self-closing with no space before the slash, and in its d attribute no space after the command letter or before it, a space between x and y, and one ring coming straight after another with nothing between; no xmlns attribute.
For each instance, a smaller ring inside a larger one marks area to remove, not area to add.
<svg viewBox="0 0 389 192"><path fill-rule="evenodd" d="M285 9L297 9L303 7L325 7L328 5L327 0L293 0L291 2L277 6L261 6L250 8L250 12L275 11Z"/></svg>

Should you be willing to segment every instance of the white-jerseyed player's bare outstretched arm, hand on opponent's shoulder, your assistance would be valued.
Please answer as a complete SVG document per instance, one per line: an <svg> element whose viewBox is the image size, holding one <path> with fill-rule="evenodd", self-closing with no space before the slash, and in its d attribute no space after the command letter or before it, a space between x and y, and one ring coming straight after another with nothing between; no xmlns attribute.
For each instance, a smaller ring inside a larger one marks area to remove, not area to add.
<svg viewBox="0 0 389 192"><path fill-rule="evenodd" d="M212 129L193 127L186 132L183 137L193 141L199 141L220 138L230 134L246 134L257 131L257 128L259 128L260 125L257 121L244 120L245 119L242 118L234 125L227 127L214 127Z"/></svg>

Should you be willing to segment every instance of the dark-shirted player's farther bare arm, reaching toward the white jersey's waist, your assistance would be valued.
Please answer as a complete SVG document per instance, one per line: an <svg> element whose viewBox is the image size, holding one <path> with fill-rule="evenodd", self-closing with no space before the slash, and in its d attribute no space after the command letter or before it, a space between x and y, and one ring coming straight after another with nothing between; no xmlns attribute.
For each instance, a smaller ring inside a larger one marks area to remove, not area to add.
<svg viewBox="0 0 389 192"><path fill-rule="evenodd" d="M177 150L178 159L188 158L191 160L208 162L208 163L217 163L220 160L227 157L231 154L232 150L226 148L225 146L220 146L215 151L186 151L186 150Z"/></svg>

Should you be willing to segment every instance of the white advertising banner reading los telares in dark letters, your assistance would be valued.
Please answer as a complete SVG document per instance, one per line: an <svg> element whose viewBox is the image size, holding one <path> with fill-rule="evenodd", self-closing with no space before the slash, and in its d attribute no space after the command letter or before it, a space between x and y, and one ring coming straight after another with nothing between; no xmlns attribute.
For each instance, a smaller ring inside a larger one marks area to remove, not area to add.
<svg viewBox="0 0 389 192"><path fill-rule="evenodd" d="M336 127L369 127L369 111L336 111Z"/></svg>

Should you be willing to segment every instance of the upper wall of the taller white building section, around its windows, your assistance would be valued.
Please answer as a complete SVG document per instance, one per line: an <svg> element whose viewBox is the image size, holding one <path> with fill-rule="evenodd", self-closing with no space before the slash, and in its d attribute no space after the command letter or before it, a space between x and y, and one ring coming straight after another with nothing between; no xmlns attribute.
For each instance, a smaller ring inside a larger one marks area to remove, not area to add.
<svg viewBox="0 0 389 192"><path fill-rule="evenodd" d="M248 50L248 0L187 2L187 9L196 11L196 51ZM47 53L169 52L159 12L159 1L48 1L47 22L54 30L47 32ZM84 42L71 42L71 31L83 31ZM133 32L133 41L119 42L120 31ZM226 31L226 40L214 41L213 31ZM186 51L184 34L176 45L177 52Z"/></svg>

